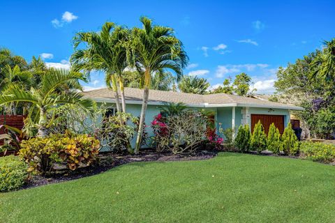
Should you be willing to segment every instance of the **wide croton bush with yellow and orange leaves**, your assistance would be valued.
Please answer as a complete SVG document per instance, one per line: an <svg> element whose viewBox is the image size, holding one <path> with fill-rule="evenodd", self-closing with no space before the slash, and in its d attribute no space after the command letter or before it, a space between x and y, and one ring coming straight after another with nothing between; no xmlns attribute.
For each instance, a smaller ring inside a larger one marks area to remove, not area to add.
<svg viewBox="0 0 335 223"><path fill-rule="evenodd" d="M51 134L22 141L20 156L29 164L28 171L44 173L55 162L66 162L71 170L82 164L89 165L98 154L100 143L87 134Z"/></svg>

